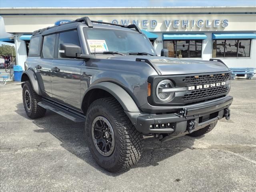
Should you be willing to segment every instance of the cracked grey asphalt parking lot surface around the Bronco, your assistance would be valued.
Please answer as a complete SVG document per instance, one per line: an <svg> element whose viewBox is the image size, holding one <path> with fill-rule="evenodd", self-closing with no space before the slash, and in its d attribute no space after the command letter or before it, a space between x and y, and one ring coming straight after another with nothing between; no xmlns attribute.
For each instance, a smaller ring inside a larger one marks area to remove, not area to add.
<svg viewBox="0 0 256 192"><path fill-rule="evenodd" d="M84 123L29 119L20 82L0 87L0 191L246 191L256 189L256 79L232 81L231 119L199 138L147 139L130 170L92 159Z"/></svg>

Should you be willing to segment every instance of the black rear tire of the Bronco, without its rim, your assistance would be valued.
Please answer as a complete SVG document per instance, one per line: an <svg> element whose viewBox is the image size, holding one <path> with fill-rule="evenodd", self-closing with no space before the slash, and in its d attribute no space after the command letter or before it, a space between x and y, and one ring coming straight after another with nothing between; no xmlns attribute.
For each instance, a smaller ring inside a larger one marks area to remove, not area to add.
<svg viewBox="0 0 256 192"><path fill-rule="evenodd" d="M28 110L26 107L26 101L25 101L25 92L28 90L31 98L31 109ZM23 98L23 105L26 111L26 114L31 119L36 119L43 117L46 113L46 109L42 108L38 105L38 102L42 101L42 97L34 91L32 84L30 81L26 81L22 88L22 98Z"/></svg>

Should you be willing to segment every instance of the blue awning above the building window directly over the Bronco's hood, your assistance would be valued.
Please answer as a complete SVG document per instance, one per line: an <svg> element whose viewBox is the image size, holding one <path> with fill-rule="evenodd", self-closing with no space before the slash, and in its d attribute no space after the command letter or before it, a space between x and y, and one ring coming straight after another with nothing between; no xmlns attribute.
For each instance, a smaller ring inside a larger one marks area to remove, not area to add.
<svg viewBox="0 0 256 192"><path fill-rule="evenodd" d="M207 39L204 33L169 33L163 34L163 40L204 40Z"/></svg>

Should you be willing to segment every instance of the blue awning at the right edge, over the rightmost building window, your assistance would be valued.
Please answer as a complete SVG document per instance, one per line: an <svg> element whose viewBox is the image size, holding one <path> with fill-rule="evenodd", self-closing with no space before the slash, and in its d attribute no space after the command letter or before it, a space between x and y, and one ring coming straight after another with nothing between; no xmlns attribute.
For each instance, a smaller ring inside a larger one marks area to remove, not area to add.
<svg viewBox="0 0 256 192"><path fill-rule="evenodd" d="M213 33L212 39L255 39L255 33Z"/></svg>

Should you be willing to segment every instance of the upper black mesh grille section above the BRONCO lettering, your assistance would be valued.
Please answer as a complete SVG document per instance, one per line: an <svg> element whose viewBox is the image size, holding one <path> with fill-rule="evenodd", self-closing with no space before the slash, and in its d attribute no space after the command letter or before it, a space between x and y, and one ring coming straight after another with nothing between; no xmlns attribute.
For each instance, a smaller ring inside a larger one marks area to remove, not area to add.
<svg viewBox="0 0 256 192"><path fill-rule="evenodd" d="M186 76L182 81L187 86L194 86L194 85L226 82L230 80L230 78L231 78L231 75L229 73L223 73L223 74L212 74L212 75L210 74L198 75L198 78L195 78L195 76Z"/></svg>

